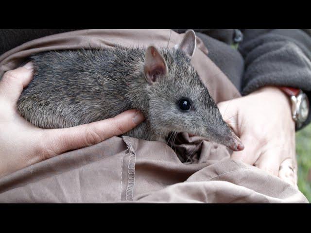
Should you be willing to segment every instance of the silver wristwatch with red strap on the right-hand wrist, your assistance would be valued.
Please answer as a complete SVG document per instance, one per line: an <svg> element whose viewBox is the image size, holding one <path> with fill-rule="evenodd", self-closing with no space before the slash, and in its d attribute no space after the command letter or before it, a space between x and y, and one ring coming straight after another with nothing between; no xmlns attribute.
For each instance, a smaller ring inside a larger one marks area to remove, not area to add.
<svg viewBox="0 0 311 233"><path fill-rule="evenodd" d="M309 116L308 96L300 89L284 86L280 87L280 89L291 98L293 120L296 127L300 128Z"/></svg>

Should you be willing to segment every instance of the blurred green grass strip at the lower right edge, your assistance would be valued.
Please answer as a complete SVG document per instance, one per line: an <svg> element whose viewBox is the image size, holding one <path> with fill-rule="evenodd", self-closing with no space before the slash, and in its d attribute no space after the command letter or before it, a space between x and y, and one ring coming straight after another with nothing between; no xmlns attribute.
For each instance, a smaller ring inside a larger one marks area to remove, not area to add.
<svg viewBox="0 0 311 233"><path fill-rule="evenodd" d="M311 124L296 133L299 190L311 202Z"/></svg>

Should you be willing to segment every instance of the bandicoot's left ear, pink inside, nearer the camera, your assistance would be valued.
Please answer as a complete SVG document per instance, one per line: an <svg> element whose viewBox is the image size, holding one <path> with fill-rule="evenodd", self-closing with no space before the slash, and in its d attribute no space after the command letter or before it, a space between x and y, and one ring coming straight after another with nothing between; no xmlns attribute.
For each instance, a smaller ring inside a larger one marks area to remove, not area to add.
<svg viewBox="0 0 311 233"><path fill-rule="evenodd" d="M149 46L145 53L144 73L148 83L155 83L157 79L168 72L164 58L155 49Z"/></svg>

